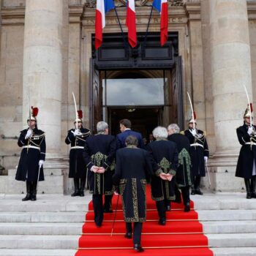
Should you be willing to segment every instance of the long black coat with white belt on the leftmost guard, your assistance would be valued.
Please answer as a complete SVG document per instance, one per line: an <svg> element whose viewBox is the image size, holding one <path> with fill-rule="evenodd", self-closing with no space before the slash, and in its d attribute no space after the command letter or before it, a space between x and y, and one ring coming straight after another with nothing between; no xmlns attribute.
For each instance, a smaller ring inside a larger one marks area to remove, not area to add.
<svg viewBox="0 0 256 256"><path fill-rule="evenodd" d="M29 128L28 128L29 129ZM18 146L23 147L15 179L17 181L37 181L39 160L45 160L45 132L35 128L31 138L25 139L28 129L23 129L18 138ZM40 168L39 181L44 181L43 168Z"/></svg>

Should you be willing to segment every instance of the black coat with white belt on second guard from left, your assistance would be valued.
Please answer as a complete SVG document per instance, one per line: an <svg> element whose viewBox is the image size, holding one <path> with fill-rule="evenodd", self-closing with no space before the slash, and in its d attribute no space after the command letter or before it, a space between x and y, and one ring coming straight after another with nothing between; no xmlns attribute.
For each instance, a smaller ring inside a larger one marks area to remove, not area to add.
<svg viewBox="0 0 256 256"><path fill-rule="evenodd" d="M81 134L74 136L75 129L69 129L65 143L71 144L69 151L69 178L86 178L86 164L83 159L83 147L86 138L91 135L91 131L81 128Z"/></svg>

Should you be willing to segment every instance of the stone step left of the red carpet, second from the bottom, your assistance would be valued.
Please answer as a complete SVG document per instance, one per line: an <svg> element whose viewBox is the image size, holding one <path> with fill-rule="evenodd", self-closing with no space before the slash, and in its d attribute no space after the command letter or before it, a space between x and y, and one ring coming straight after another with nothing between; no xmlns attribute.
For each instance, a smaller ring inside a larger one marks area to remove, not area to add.
<svg viewBox="0 0 256 256"><path fill-rule="evenodd" d="M76 249L79 237L0 235L0 249Z"/></svg>

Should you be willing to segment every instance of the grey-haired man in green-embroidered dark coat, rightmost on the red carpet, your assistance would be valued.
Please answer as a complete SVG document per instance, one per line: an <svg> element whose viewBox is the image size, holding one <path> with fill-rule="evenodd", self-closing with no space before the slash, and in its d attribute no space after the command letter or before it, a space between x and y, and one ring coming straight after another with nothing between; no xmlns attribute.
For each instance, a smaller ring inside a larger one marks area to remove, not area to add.
<svg viewBox="0 0 256 256"><path fill-rule="evenodd" d="M180 133L177 124L170 124L167 128L168 140L176 143L178 148L178 168L176 171L176 202L184 203L184 211L190 211L189 187L191 187L191 159L189 155L189 139ZM181 189L181 193L178 191Z"/></svg>

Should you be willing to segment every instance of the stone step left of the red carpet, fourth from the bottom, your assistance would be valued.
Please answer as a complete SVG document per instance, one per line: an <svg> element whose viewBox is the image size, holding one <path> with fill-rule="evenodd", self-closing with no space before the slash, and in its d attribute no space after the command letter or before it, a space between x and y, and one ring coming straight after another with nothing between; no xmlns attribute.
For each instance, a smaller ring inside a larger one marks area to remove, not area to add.
<svg viewBox="0 0 256 256"><path fill-rule="evenodd" d="M0 212L0 222L84 222L83 212Z"/></svg>

